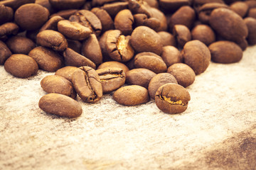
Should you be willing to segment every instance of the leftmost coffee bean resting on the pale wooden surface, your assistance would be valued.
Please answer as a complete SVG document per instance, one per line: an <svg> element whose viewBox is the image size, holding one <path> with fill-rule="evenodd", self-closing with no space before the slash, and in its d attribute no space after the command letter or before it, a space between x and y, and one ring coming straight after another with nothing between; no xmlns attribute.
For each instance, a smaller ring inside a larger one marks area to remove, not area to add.
<svg viewBox="0 0 256 170"><path fill-rule="evenodd" d="M6 72L18 78L27 78L38 72L38 64L28 55L11 55L4 63Z"/></svg>

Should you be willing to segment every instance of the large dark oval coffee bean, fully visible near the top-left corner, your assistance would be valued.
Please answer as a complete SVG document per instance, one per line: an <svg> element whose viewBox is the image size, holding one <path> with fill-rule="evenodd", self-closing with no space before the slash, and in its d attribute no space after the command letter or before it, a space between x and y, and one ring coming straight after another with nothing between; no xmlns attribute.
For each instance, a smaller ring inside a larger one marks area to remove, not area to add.
<svg viewBox="0 0 256 170"><path fill-rule="evenodd" d="M16 10L14 20L23 30L36 30L46 23L49 15L48 9L41 5L25 4Z"/></svg>

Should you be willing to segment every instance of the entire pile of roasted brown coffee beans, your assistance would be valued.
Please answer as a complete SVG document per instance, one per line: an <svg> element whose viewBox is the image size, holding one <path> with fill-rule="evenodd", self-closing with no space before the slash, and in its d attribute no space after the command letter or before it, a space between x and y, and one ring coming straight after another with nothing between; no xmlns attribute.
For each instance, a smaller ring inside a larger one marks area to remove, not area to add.
<svg viewBox="0 0 256 170"><path fill-rule="evenodd" d="M0 64L19 78L55 72L39 107L69 118L82 113L77 96L109 93L182 113L210 60L239 62L255 44L252 0L0 0Z"/></svg>

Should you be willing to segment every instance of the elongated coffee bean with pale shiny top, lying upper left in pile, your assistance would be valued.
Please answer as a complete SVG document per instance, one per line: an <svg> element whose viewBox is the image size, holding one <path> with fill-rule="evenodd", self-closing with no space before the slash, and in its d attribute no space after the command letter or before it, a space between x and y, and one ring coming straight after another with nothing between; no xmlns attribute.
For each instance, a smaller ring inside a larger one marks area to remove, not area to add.
<svg viewBox="0 0 256 170"><path fill-rule="evenodd" d="M82 26L80 23L70 22L68 20L58 22L58 31L65 35L65 37L72 40L85 40L92 33L90 28Z"/></svg>

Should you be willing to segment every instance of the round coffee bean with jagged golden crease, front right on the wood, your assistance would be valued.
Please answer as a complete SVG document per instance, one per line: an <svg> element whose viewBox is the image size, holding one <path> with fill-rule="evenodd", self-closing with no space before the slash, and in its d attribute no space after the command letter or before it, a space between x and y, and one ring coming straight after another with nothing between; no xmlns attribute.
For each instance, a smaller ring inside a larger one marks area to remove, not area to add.
<svg viewBox="0 0 256 170"><path fill-rule="evenodd" d="M164 113L183 113L188 108L191 96L188 91L178 84L164 84L156 91L156 106Z"/></svg>

